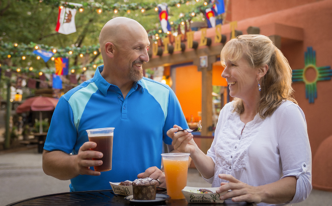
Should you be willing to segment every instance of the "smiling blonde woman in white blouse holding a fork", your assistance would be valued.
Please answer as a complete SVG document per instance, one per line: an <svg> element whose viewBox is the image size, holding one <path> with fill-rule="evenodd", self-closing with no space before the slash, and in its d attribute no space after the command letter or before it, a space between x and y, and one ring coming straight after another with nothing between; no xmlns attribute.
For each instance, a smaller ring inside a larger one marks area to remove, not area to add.
<svg viewBox="0 0 332 206"><path fill-rule="evenodd" d="M241 35L220 54L222 77L234 97L220 111L205 155L193 135L174 125L172 145L190 153L221 199L258 205L291 204L308 197L311 150L303 111L292 97L288 60L263 35Z"/></svg>

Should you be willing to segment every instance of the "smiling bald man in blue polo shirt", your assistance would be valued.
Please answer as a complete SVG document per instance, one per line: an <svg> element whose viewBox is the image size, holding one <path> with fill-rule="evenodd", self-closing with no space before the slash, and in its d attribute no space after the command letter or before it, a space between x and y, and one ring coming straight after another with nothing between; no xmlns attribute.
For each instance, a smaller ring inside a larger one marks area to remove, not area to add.
<svg viewBox="0 0 332 206"><path fill-rule="evenodd" d="M174 124L188 128L172 89L143 77L149 60L149 39L137 21L117 17L99 36L104 65L94 77L64 94L53 113L43 152L43 170L61 180L70 179L70 191L111 189L109 182L151 177L165 187L160 170L162 142ZM112 170L102 165L101 152L89 142L86 130L115 127ZM92 160L97 158L97 160Z"/></svg>

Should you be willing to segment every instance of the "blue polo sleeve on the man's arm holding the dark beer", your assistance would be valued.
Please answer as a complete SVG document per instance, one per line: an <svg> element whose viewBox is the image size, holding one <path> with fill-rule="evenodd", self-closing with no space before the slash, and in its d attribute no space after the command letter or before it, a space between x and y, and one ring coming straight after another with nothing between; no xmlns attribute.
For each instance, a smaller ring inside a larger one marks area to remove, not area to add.
<svg viewBox="0 0 332 206"><path fill-rule="evenodd" d="M74 149L76 139L77 130L73 123L73 113L69 103L62 96L55 107L44 149L59 150L69 154Z"/></svg>

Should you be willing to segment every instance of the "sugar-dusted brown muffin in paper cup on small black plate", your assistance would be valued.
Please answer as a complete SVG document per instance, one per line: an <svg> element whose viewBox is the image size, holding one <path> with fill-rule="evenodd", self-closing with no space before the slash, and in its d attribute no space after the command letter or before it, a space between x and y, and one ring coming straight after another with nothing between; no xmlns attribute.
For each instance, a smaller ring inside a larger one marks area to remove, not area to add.
<svg viewBox="0 0 332 206"><path fill-rule="evenodd" d="M135 179L133 181L133 197L136 200L155 199L157 181L150 178Z"/></svg>

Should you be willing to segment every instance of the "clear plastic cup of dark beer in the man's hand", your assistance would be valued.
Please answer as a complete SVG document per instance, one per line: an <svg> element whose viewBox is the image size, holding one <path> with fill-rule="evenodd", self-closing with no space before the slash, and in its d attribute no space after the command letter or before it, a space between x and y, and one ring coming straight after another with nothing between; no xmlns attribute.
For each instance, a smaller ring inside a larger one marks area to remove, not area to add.
<svg viewBox="0 0 332 206"><path fill-rule="evenodd" d="M94 167L95 171L105 172L112 170L114 129L114 127L87 129L89 141L97 144L97 147L91 150L103 153L101 159L93 158L93 160L103 161L102 165Z"/></svg>

